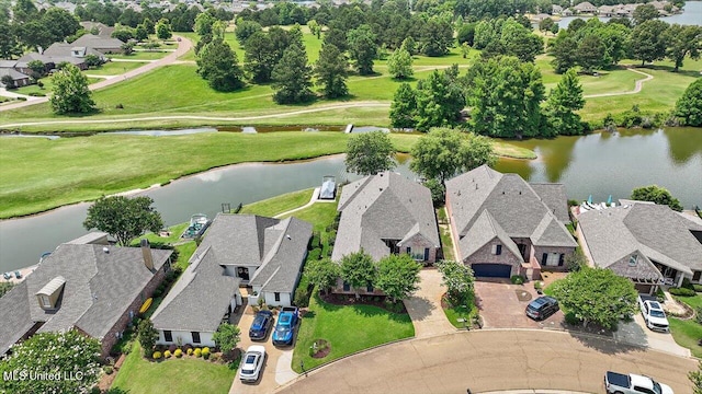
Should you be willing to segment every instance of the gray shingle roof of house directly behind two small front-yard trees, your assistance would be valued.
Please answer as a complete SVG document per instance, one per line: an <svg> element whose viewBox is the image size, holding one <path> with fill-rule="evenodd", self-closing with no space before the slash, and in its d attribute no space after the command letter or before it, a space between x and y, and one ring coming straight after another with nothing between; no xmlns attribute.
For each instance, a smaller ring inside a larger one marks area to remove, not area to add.
<svg viewBox="0 0 702 394"><path fill-rule="evenodd" d="M431 193L403 175L384 172L346 185L339 198L341 220L331 258L363 248L373 258L389 254L382 241L420 233L440 246Z"/></svg>

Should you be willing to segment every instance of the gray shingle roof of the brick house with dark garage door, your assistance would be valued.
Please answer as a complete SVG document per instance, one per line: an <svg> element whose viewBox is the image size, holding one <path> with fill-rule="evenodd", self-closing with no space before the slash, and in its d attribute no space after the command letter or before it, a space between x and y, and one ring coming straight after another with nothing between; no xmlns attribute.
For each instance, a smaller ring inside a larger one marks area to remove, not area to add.
<svg viewBox="0 0 702 394"><path fill-rule="evenodd" d="M543 246L577 246L559 218L567 217L563 185L536 184L534 188L518 174L501 174L482 165L449 179L446 196L460 236L467 236L487 210L510 239L529 237ZM466 252L469 250L461 253L464 258L469 256Z"/></svg>

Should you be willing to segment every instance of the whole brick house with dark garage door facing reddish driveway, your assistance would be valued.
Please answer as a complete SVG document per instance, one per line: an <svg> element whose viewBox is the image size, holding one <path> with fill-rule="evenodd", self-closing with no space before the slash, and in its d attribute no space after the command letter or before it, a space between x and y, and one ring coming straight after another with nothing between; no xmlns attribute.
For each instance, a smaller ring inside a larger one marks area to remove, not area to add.
<svg viewBox="0 0 702 394"><path fill-rule="evenodd" d="M537 279L543 267L565 269L577 246L562 184L530 184L483 165L446 182L446 209L458 260L476 277Z"/></svg>

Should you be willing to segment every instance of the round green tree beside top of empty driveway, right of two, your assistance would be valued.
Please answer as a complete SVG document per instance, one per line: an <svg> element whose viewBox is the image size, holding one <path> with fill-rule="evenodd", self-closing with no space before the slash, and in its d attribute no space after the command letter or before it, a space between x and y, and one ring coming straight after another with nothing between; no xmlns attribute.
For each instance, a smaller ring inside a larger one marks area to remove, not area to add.
<svg viewBox="0 0 702 394"><path fill-rule="evenodd" d="M421 264L408 254L388 255L377 263L375 286L393 302L401 301L419 288Z"/></svg>

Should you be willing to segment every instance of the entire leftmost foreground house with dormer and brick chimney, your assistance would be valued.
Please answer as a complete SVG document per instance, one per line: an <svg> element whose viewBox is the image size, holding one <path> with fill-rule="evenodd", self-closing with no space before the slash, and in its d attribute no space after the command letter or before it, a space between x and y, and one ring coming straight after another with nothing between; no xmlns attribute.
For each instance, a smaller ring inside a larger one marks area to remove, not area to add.
<svg viewBox="0 0 702 394"><path fill-rule="evenodd" d="M0 355L35 333L77 329L110 354L170 269L172 251L109 245L91 233L59 245L0 298Z"/></svg>

